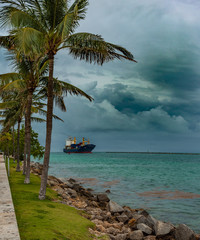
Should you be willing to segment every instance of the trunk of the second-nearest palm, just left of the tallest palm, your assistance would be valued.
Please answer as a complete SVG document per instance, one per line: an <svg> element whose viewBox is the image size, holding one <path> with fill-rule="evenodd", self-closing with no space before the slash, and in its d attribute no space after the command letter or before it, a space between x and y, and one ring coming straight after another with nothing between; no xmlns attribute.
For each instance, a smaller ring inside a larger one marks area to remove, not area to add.
<svg viewBox="0 0 200 240"><path fill-rule="evenodd" d="M29 90L28 98L27 98L27 108L26 108L26 178L24 183L30 183L30 158L31 158L31 106L32 106L32 99L33 99L33 90Z"/></svg>

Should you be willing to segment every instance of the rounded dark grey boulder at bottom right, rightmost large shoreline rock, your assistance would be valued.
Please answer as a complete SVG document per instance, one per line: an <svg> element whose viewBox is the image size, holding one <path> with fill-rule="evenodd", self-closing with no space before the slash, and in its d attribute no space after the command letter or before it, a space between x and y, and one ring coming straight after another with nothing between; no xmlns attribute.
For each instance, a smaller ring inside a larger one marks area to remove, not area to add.
<svg viewBox="0 0 200 240"><path fill-rule="evenodd" d="M175 230L176 240L195 240L195 233L185 224L180 224Z"/></svg>

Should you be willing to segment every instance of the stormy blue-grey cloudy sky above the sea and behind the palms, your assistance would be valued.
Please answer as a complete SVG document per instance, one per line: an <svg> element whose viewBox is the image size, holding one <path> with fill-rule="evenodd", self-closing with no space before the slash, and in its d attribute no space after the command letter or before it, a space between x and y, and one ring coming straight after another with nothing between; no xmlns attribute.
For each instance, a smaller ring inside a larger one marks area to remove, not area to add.
<svg viewBox="0 0 200 240"><path fill-rule="evenodd" d="M94 98L68 96L64 120L53 122L52 151L69 136L89 138L95 151L200 152L200 1L90 0L76 32L100 34L138 63L103 66L63 50L54 76ZM2 32L1 32L2 34ZM10 71L4 51L0 71ZM45 143L45 125L33 124Z"/></svg>

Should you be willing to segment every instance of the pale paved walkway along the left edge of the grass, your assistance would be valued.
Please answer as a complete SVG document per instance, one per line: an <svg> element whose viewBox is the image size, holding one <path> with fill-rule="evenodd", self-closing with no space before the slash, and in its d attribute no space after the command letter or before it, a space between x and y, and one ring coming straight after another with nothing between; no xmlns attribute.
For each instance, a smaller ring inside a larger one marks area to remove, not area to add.
<svg viewBox="0 0 200 240"><path fill-rule="evenodd" d="M19 229L3 155L0 155L0 239L20 240Z"/></svg>

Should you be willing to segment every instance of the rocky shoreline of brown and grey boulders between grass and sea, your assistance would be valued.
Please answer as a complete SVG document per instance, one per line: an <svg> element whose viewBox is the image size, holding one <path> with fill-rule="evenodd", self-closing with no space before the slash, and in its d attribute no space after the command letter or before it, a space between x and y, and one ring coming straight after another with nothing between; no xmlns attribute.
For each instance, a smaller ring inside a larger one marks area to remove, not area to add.
<svg viewBox="0 0 200 240"><path fill-rule="evenodd" d="M31 172L41 175L42 165L31 163ZM75 179L62 181L54 176L48 177L48 185L58 193L60 203L84 210L84 217L95 223L89 229L94 239L111 240L200 240L185 224L174 226L155 219L144 209L131 209L120 206L109 199L106 193L93 194Z"/></svg>

